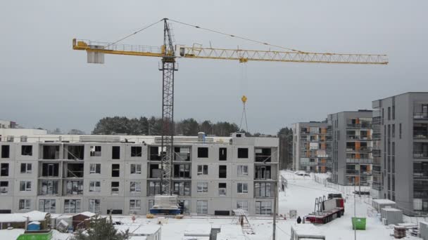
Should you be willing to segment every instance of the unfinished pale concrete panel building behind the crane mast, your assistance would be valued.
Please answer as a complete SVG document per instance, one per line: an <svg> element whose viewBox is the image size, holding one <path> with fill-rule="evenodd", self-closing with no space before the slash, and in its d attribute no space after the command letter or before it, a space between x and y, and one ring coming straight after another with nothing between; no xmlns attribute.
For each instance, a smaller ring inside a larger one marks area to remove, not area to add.
<svg viewBox="0 0 428 240"><path fill-rule="evenodd" d="M9 140L9 142L8 142ZM146 214L160 194L154 136L30 135L0 142L0 213ZM175 138L172 192L185 214L270 215L278 138Z"/></svg>

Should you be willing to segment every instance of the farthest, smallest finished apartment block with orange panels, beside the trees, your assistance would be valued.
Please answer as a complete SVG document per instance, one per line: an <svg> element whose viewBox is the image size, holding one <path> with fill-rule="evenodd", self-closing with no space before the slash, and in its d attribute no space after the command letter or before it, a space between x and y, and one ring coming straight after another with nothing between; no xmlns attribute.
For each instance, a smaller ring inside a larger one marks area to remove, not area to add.
<svg viewBox="0 0 428 240"><path fill-rule="evenodd" d="M326 173L329 170L328 124L301 122L293 125L294 170Z"/></svg>

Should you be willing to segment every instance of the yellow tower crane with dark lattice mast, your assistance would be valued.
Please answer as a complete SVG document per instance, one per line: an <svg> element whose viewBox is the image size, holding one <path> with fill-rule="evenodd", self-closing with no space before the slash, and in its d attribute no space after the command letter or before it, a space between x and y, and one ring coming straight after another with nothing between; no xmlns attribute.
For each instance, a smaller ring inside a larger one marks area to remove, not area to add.
<svg viewBox="0 0 428 240"><path fill-rule="evenodd" d="M151 27L159 22L163 22L163 44L160 47L139 46L118 44L119 41L129 36L137 34L142 30ZM188 25L197 29L203 29L229 37L252 41L265 46L282 48L284 51L270 50L246 50L246 49L228 49L228 48L204 48L200 45L193 46L174 45L172 39L172 29L170 22L176 22L182 25ZM124 38L113 43L101 43L97 41L88 41L73 39L73 49L87 51L87 61L89 63L104 63L104 54L115 55L136 55L145 57L157 57L161 59L162 64L159 70L162 72L162 137L161 137L161 184L160 192L162 194L171 194L172 187L172 158L174 154L174 74L177 71L178 58L195 59L217 59L217 60L238 60L239 62L265 61L265 62L308 62L308 63L336 63L336 64L358 64L358 65L386 65L388 58L386 55L378 54L353 54L353 53L311 53L297 51L291 48L283 48L267 44L261 41L246 39L241 36L225 34L211 29L206 29L196 25L190 25L176 20L163 18L158 22L144 27ZM165 153L163 151L165 150Z"/></svg>

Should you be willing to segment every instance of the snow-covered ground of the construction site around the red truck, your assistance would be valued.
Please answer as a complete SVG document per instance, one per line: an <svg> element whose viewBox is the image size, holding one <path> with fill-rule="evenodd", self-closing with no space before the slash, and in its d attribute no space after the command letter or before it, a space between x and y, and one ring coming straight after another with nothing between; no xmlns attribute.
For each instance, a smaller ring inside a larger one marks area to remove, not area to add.
<svg viewBox="0 0 428 240"><path fill-rule="evenodd" d="M362 196L356 198L354 202L353 189L354 187L343 187L327 184L322 179L325 175L310 175L298 176L291 172L282 171L282 175L287 178L288 187L285 192L279 192L279 211L281 215L287 215L277 218L277 239L285 240L290 239L291 226L296 225L296 218L289 218L289 211L296 210L297 215L303 218L304 215L314 211L315 198L319 196L327 196L329 193L342 193L346 198L345 214L341 218L332 220L325 225L317 225L316 228L320 233L325 234L326 239L354 239L354 231L352 229L351 218L354 214L354 206L356 207L357 217L367 218L366 230L358 230L356 232L357 239L364 240L383 240L394 239L391 234L394 229L389 226L384 226L376 217L370 205L370 198ZM315 181L316 180L316 181ZM363 189L362 189L363 190ZM356 205L355 205L356 203ZM137 217L135 222L132 222L130 216L118 216L113 218L115 221L122 222L120 228L123 229L126 225L132 228L136 225L157 225L157 219L147 219L145 216ZM272 239L272 217L271 216L252 216L248 217L253 231L255 234L246 234L246 240L270 240ZM415 222L413 218L405 217L407 222ZM184 216L183 219L168 218L165 223L161 225L162 240L182 240L184 239L184 232L189 229L203 229L206 225L213 228L221 228L222 226L237 225L237 219L234 217L222 216ZM306 223L308 224L308 223ZM205 225L205 226L203 226ZM18 230L18 229L16 229ZM15 230L16 233L18 233ZM2 237L2 232L8 230L0 230L0 239L7 239ZM16 234L15 233L15 234ZM55 234L53 239L67 239L67 234ZM232 235L231 235L232 236ZM205 238L206 239L206 238ZM234 240L237 238L228 238ZM408 236L405 239L419 239L413 236ZM239 239L240 240L240 239Z"/></svg>

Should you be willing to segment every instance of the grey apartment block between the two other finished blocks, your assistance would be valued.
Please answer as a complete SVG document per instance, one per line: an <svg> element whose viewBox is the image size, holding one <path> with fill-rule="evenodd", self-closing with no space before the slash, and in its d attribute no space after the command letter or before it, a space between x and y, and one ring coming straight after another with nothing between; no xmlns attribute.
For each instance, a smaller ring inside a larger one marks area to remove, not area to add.
<svg viewBox="0 0 428 240"><path fill-rule="evenodd" d="M370 185L372 182L372 111L329 114L332 182Z"/></svg>

